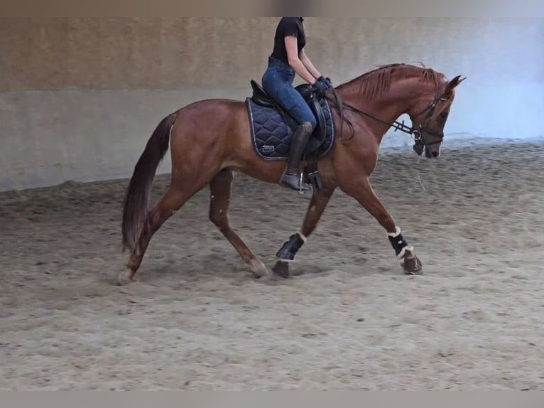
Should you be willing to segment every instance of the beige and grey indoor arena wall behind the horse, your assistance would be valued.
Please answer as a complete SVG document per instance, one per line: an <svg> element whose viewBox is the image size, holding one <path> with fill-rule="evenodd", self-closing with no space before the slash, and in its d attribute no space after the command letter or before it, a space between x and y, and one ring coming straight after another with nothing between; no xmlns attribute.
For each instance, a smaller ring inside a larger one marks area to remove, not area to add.
<svg viewBox="0 0 544 408"><path fill-rule="evenodd" d="M266 67L277 21L0 18L0 190L129 177L166 114L196 100L249 95L249 80L260 80ZM305 24L308 55L337 84L396 62L466 76L447 124L449 140L544 135L541 18ZM388 134L383 148L409 141Z"/></svg>

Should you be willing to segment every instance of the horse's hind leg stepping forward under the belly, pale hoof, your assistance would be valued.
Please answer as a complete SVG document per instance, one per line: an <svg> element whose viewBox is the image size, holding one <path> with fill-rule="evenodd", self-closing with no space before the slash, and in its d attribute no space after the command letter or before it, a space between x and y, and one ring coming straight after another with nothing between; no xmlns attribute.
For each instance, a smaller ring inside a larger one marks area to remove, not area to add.
<svg viewBox="0 0 544 408"><path fill-rule="evenodd" d="M246 264L249 264L254 277L260 278L268 274L265 265L251 252L251 249L247 247L229 225L228 212L232 178L232 170L225 169L217 173L217 176L210 183L210 220L229 240Z"/></svg>

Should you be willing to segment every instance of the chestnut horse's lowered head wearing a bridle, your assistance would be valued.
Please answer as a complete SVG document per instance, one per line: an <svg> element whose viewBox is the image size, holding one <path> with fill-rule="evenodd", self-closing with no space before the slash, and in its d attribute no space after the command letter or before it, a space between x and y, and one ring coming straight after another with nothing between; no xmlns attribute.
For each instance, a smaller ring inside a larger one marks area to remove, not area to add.
<svg viewBox="0 0 544 408"><path fill-rule="evenodd" d="M410 107L408 115L415 136L413 149L418 156L422 156L423 153L428 159L440 156L444 127L455 97L455 87L463 80L461 75L457 75L450 82L446 82L434 97L422 95ZM429 100L430 98L433 99Z"/></svg>

